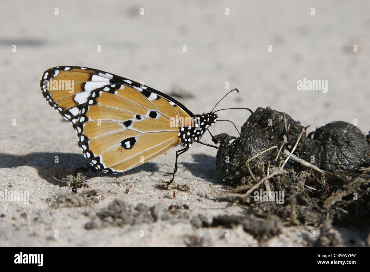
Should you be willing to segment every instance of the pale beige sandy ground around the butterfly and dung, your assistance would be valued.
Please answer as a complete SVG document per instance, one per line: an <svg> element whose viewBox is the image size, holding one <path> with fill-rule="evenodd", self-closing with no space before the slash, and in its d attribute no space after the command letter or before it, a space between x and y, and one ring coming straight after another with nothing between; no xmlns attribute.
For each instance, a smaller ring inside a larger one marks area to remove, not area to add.
<svg viewBox="0 0 370 272"><path fill-rule="evenodd" d="M309 226L283 227L281 234L262 244L240 226L229 229L229 236L221 227L194 228L187 218L202 214L210 220L242 212L240 206L213 200L209 184L224 188L215 169L216 150L199 144L180 157L175 182L191 189L178 192L176 198L171 197L173 190L156 186L173 169L174 149L122 175L89 174L89 189L101 194L96 204L51 207L71 192L52 177L58 177L61 168L71 171L85 165L73 128L39 89L40 75L54 66L93 67L164 93L185 91L188 95L178 100L194 113L210 111L226 93L228 82L240 93L231 94L220 108L270 106L310 124L309 131L354 119L362 131L370 130L369 1L174 2L1 3L0 191L26 191L30 196L26 204L0 203L1 246L313 244L316 238L310 237ZM303 78L327 80L327 93L298 91L297 80ZM220 115L237 127L248 117L242 110ZM236 134L227 123L216 124L212 132ZM205 135L203 141L211 138ZM186 204L189 209L170 214L181 215L178 221L84 228L115 198L134 206L161 204L166 209ZM366 230L338 229L337 234L345 245L353 245L349 239L364 245L367 236Z"/></svg>

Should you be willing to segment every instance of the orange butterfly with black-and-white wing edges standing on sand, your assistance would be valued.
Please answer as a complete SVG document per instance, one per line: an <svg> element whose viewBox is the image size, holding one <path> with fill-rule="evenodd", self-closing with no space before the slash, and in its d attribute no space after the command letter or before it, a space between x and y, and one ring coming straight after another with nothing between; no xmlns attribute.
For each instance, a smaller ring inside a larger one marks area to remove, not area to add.
<svg viewBox="0 0 370 272"><path fill-rule="evenodd" d="M58 66L41 75L40 88L49 105L71 123L78 146L95 170L124 172L181 145L174 171L168 172L170 184L178 156L193 142L215 147L200 141L216 122L213 110L193 114L174 98L128 78Z"/></svg>

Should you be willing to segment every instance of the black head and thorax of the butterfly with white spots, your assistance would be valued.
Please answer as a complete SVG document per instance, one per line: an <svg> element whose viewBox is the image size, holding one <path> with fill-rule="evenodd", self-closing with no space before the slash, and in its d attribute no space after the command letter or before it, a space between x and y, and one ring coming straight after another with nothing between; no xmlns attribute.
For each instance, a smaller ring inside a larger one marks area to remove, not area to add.
<svg viewBox="0 0 370 272"><path fill-rule="evenodd" d="M215 124L216 118L217 114L214 113L194 115L191 125L179 127L178 136L181 138L181 145L190 147L193 142L199 142L208 127Z"/></svg>

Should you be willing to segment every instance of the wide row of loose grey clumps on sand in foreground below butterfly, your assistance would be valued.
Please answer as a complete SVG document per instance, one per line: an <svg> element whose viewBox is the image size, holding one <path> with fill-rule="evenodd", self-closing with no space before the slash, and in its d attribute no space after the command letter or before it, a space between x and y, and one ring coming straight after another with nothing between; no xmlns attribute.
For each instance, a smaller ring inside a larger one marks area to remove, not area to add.
<svg viewBox="0 0 370 272"><path fill-rule="evenodd" d="M182 209L166 209L161 203L154 206L147 206L139 203L136 207L132 204L114 199L101 212L97 212L97 218L85 224L86 229L105 227L108 225L123 226L136 224L149 224L158 220L170 220L173 222L180 219L189 220L189 213ZM97 219L100 219L98 221Z"/></svg>

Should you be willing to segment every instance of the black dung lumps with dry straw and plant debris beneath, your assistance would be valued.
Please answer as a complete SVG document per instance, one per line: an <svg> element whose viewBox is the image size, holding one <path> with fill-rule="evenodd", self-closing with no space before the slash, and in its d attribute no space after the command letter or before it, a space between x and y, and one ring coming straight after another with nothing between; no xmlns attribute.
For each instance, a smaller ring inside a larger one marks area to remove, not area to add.
<svg viewBox="0 0 370 272"><path fill-rule="evenodd" d="M211 185L215 195L259 218L274 214L284 225L322 226L325 219L370 226L370 135L342 121L309 135L306 128L268 107L258 108L235 140L216 135L216 168L234 188Z"/></svg>

